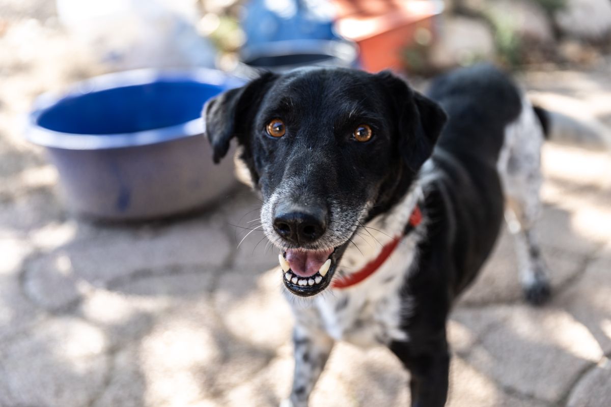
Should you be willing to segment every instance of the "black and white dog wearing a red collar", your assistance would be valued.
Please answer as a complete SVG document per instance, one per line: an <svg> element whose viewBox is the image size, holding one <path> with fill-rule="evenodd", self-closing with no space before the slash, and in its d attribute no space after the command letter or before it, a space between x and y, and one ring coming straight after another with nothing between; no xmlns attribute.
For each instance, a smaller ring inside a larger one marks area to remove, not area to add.
<svg viewBox="0 0 611 407"><path fill-rule="evenodd" d="M525 297L549 297L535 229L546 115L491 65L441 76L426 95L387 71L265 73L202 115L215 162L237 140L280 250L295 315L283 406L307 406L338 340L387 346L411 373L411 405L445 405L448 313L505 209Z"/></svg>

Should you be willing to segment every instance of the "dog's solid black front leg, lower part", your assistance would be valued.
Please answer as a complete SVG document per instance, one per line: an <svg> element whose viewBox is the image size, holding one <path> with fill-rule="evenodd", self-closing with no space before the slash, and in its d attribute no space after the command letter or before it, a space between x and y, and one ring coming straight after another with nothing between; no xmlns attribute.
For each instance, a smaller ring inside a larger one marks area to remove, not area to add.
<svg viewBox="0 0 611 407"><path fill-rule="evenodd" d="M412 407L443 407L448 394L450 353L443 338L393 342L390 350L409 369Z"/></svg>

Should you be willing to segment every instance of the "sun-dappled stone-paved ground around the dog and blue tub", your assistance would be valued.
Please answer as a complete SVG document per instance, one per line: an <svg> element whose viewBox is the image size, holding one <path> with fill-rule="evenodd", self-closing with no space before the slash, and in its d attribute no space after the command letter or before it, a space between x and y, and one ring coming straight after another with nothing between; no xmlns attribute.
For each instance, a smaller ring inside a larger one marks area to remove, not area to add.
<svg viewBox="0 0 611 407"><path fill-rule="evenodd" d="M3 67L0 87L0 406L278 405L293 362L276 252L262 234L236 248L231 226L258 201L238 188L207 212L128 226L69 214L20 115L83 73L37 58ZM608 126L610 66L522 80ZM503 232L449 322L452 407L611 405L611 157L548 143L543 163L554 297L522 301ZM384 348L339 344L311 405L408 405L407 380Z"/></svg>

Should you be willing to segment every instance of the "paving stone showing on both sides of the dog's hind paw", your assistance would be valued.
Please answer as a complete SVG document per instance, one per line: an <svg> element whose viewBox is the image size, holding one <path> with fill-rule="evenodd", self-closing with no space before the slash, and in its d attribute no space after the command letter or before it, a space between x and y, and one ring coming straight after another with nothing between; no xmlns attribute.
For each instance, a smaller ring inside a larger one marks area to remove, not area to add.
<svg viewBox="0 0 611 407"><path fill-rule="evenodd" d="M562 287L568 279L582 272L585 256L571 251L558 250L546 245L542 250L549 267L552 290ZM519 281L518 259L513 236L503 231L491 258L486 262L480 275L467 289L459 304L506 303L523 298Z"/></svg>

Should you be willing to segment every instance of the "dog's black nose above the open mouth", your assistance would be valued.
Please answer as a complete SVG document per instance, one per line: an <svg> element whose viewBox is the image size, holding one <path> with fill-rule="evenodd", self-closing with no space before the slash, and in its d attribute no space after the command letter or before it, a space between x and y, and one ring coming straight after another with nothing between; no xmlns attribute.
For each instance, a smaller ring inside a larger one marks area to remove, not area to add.
<svg viewBox="0 0 611 407"><path fill-rule="evenodd" d="M296 207L280 204L276 208L274 230L293 243L310 243L323 236L327 229L327 212L317 207Z"/></svg>

